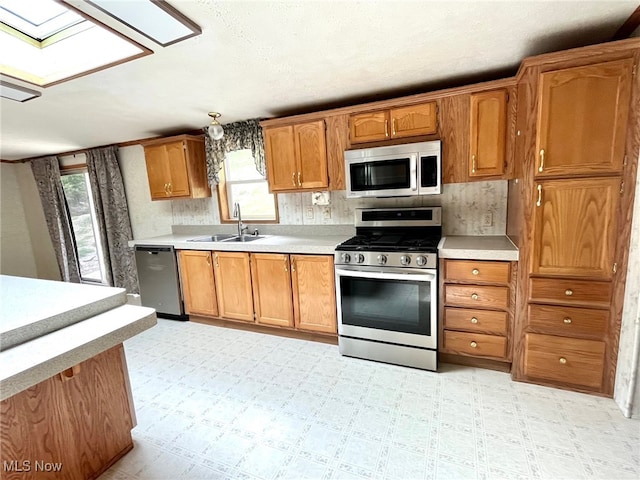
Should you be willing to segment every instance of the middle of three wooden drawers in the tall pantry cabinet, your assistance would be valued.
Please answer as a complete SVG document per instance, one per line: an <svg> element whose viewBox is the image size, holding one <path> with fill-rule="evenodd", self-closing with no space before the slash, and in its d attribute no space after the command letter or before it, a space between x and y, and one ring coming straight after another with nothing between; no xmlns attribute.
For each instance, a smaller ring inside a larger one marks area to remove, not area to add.
<svg viewBox="0 0 640 480"><path fill-rule="evenodd" d="M529 305L529 326L554 335L602 337L609 323L608 310Z"/></svg>

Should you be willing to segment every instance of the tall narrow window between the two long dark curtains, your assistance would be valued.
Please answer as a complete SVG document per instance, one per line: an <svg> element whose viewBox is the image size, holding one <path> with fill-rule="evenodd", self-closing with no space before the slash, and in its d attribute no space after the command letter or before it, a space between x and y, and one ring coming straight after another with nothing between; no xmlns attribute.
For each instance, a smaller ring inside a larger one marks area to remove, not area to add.
<svg viewBox="0 0 640 480"><path fill-rule="evenodd" d="M61 180L73 226L80 279L83 283L106 285L104 252L98 237L96 210L87 169L63 170Z"/></svg>

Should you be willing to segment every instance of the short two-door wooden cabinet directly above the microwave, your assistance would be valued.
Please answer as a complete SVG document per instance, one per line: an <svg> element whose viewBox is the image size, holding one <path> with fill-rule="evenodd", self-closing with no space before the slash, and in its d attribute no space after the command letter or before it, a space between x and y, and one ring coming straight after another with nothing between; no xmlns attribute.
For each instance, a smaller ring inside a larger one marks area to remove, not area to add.
<svg viewBox="0 0 640 480"><path fill-rule="evenodd" d="M349 140L366 143L431 135L437 131L436 102L349 116Z"/></svg>

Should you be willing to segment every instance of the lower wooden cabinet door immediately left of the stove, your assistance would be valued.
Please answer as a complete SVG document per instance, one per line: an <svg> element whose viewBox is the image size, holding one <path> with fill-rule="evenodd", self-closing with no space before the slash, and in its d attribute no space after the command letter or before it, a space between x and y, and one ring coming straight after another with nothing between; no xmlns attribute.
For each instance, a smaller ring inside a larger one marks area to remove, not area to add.
<svg viewBox="0 0 640 480"><path fill-rule="evenodd" d="M333 257L292 255L291 275L296 328L336 333Z"/></svg>

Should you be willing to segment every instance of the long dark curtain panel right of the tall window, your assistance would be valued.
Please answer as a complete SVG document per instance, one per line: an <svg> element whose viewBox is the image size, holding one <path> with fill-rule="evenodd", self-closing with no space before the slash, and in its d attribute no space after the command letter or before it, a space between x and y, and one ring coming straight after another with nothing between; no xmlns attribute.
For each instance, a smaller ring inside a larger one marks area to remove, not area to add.
<svg viewBox="0 0 640 480"><path fill-rule="evenodd" d="M138 275L133 249L129 207L117 147L94 148L87 152L87 171L96 209L100 241L104 248L109 285L138 293Z"/></svg>

